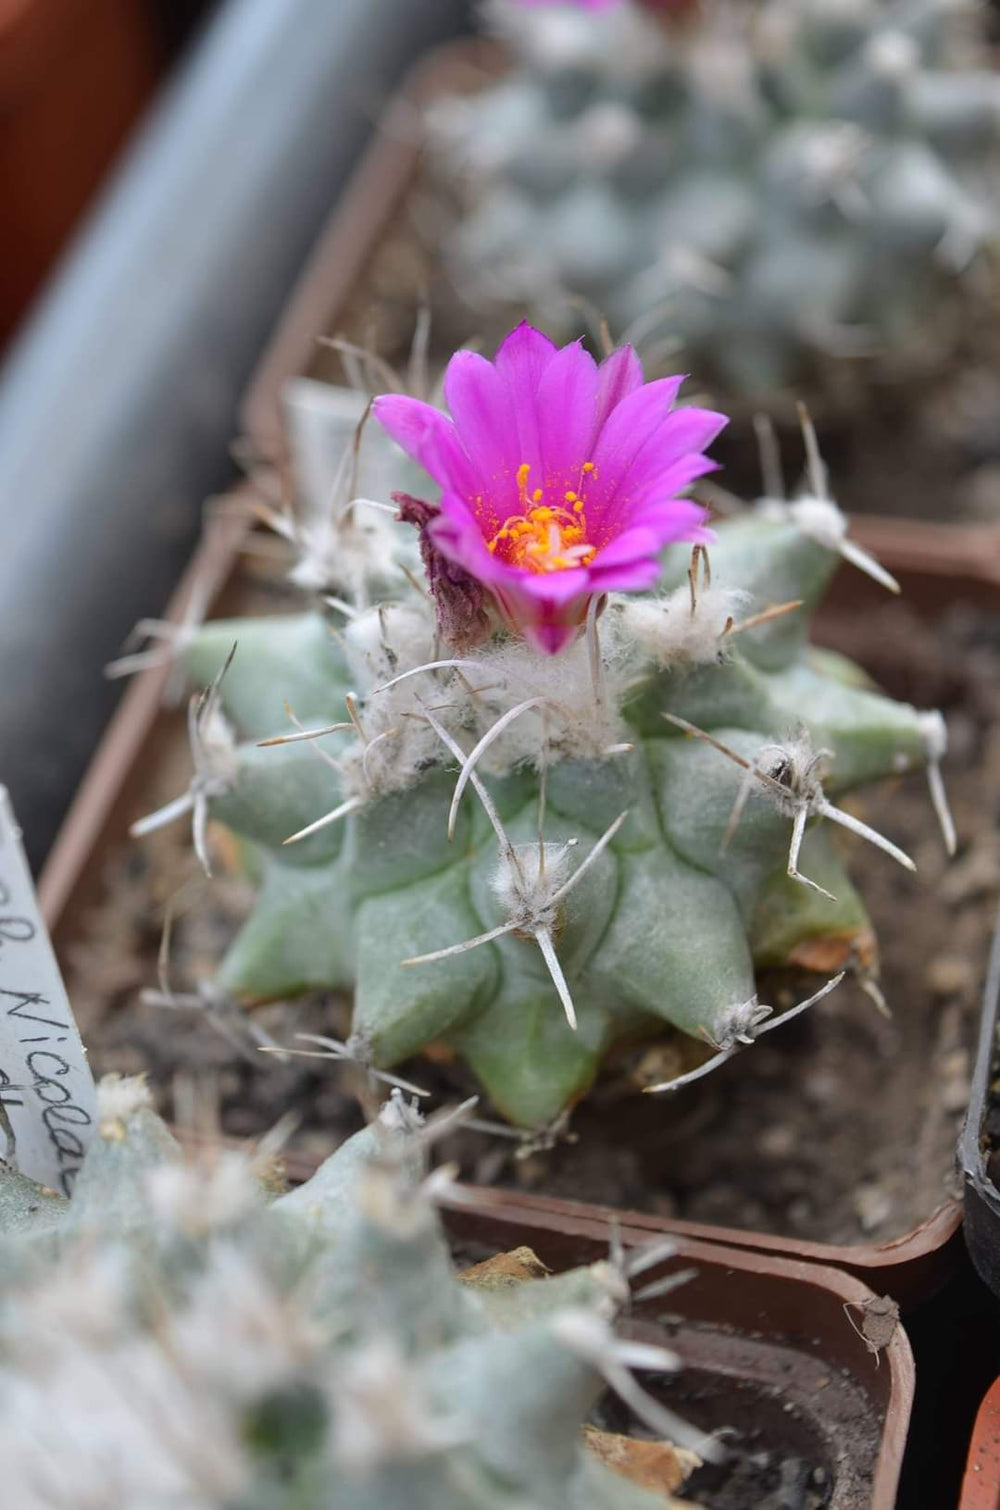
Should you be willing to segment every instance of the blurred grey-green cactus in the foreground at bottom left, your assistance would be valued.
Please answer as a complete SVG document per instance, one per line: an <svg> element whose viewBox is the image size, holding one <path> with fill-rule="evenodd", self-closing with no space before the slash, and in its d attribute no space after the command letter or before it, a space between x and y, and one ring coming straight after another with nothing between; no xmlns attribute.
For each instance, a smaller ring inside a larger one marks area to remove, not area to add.
<svg viewBox="0 0 1000 1510"><path fill-rule="evenodd" d="M675 1359L612 1332L634 1258L461 1284L432 1131L397 1095L273 1199L260 1160L186 1160L145 1086L110 1078L69 1202L2 1164L6 1502L663 1510L580 1431L610 1380L692 1434L630 1373Z"/></svg>

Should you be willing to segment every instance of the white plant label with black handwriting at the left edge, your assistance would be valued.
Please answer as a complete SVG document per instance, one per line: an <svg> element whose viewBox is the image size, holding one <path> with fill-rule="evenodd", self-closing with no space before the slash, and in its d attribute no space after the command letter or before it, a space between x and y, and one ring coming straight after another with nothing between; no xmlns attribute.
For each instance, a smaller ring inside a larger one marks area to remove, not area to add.
<svg viewBox="0 0 1000 1510"><path fill-rule="evenodd" d="M95 1119L94 1077L0 787L0 1154L68 1196Z"/></svg>

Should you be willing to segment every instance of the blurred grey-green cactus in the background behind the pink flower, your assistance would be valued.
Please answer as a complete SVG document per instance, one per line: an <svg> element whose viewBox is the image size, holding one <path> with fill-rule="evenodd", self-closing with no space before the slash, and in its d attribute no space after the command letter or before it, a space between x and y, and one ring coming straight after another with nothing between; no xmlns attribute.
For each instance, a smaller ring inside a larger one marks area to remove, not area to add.
<svg viewBox="0 0 1000 1510"><path fill-rule="evenodd" d="M565 332L589 302L754 402L937 370L992 305L1000 79L962 9L495 0L514 66L431 110L458 287Z"/></svg>

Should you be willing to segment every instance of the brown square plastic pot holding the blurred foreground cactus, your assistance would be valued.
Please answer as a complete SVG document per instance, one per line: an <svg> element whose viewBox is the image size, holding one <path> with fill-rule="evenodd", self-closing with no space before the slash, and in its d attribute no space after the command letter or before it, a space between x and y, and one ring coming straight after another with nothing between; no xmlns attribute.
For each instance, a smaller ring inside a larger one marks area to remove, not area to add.
<svg viewBox="0 0 1000 1510"><path fill-rule="evenodd" d="M625 1247L651 1235L597 1208L573 1214L506 1193L473 1194L473 1205L446 1211L453 1240L489 1252L527 1244L553 1270L606 1258L615 1232ZM666 1341L683 1359L669 1403L702 1428L760 1431L761 1447L819 1459L832 1486L829 1510L891 1510L914 1391L903 1327L873 1353L847 1320L876 1299L860 1280L687 1234L650 1277L690 1265L693 1277L666 1300L636 1302L630 1312L633 1335L651 1339L663 1339L669 1314ZM698 1499L696 1481L686 1492Z"/></svg>

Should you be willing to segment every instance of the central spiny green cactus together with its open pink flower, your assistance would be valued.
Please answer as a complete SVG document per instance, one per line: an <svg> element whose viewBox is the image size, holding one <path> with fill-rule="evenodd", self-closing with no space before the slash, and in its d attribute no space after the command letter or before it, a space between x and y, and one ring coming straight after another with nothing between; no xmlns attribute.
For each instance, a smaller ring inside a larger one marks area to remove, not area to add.
<svg viewBox="0 0 1000 1510"><path fill-rule="evenodd" d="M352 989L355 1057L444 1040L538 1128L616 1042L671 1024L707 1066L752 1042L755 965L840 960L875 991L831 824L911 861L837 800L926 766L943 806L944 731L808 646L841 556L881 574L816 455L810 497L715 538L675 492L721 418L633 352L598 368L521 328L446 388L452 418L375 406L444 489L402 497L434 598L393 577L396 522L384 601L208 624L195 779L137 829L193 808L202 853L208 815L245 841L260 891L216 992Z"/></svg>

